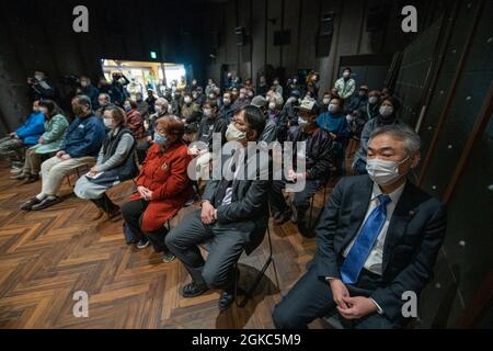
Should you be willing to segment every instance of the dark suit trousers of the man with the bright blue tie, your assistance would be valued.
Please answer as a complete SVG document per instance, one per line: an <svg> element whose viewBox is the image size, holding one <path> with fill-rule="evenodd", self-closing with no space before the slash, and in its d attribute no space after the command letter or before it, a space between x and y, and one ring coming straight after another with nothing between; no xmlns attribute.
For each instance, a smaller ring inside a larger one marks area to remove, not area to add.
<svg viewBox="0 0 493 351"><path fill-rule="evenodd" d="M351 296L369 296L379 286L372 274L362 272L357 284L348 285L347 290ZM316 318L324 317L334 310L339 314L329 282L317 275L316 264L311 262L308 272L275 307L273 319L279 329L306 329ZM348 321L347 326L357 329L402 328L377 313Z"/></svg>

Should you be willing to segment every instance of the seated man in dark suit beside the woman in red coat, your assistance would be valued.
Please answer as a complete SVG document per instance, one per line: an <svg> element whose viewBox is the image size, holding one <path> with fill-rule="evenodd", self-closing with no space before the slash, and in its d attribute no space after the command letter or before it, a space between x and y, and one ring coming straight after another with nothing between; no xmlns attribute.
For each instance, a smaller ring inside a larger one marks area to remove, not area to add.
<svg viewBox="0 0 493 351"><path fill-rule="evenodd" d="M234 263L243 250L249 253L262 242L268 222L270 181L268 177L264 180L265 177L259 177L259 173L268 173L268 161L265 165L261 159L254 162L255 167L250 167L250 158L243 161L246 168L242 173L244 177L238 177L241 167L236 165L241 166L244 157L240 155L246 156L248 143L257 141L264 127L265 117L259 107L243 106L236 113L226 138L238 141L240 148L223 163L229 177L225 174L220 180L210 180L202 196L202 211L184 218L167 236L168 248L192 276L192 283L183 287L183 297L195 297L209 288L222 288L219 309L227 309L234 298ZM206 241L210 247L205 261L198 245Z"/></svg>

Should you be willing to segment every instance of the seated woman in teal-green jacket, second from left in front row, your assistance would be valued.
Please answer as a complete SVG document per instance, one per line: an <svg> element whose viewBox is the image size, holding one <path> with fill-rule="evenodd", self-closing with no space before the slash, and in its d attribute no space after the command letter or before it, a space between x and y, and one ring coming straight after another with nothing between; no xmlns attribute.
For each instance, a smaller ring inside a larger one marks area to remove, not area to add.
<svg viewBox="0 0 493 351"><path fill-rule="evenodd" d="M22 172L12 177L12 179L23 180L23 184L39 179L41 163L60 149L69 126L61 110L51 100L39 101L38 107L45 118L45 133L38 138L37 144L25 152Z"/></svg>

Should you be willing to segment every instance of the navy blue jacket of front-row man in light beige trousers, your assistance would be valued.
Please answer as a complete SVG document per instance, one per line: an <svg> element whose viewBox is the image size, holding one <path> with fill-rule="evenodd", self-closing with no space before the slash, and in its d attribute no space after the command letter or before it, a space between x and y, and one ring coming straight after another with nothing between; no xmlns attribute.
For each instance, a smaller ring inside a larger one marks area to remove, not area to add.
<svg viewBox="0 0 493 351"><path fill-rule="evenodd" d="M98 157L105 135L103 122L94 114L77 117L68 127L61 149L71 158Z"/></svg>

